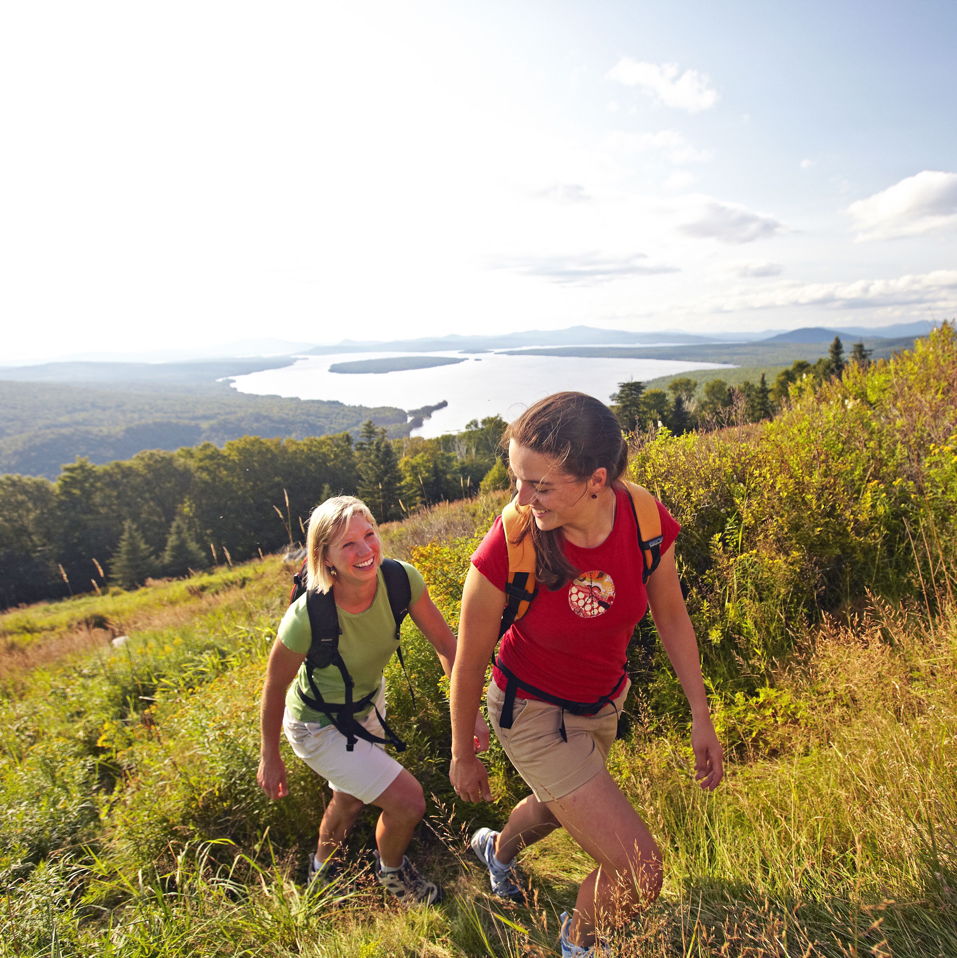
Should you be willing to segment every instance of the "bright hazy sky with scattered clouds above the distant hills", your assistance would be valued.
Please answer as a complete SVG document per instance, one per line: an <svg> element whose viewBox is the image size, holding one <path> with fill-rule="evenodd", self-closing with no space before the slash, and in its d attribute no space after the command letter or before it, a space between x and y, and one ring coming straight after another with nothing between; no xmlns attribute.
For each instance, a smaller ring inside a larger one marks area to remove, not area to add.
<svg viewBox="0 0 957 958"><path fill-rule="evenodd" d="M0 364L957 314L957 5L0 8Z"/></svg>

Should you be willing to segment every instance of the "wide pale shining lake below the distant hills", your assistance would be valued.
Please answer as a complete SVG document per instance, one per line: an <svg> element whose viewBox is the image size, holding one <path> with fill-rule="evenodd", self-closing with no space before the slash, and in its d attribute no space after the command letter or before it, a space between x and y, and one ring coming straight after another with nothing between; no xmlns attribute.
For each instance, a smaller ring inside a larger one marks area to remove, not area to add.
<svg viewBox="0 0 957 958"><path fill-rule="evenodd" d="M431 438L465 428L473 419L499 415L513 420L549 393L573 389L604 402L629 378L647 381L657 376L695 369L718 369L720 363L671 359L592 359L574 356L463 355L455 351L429 353L464 362L431 369L395 373L330 373L332 363L389 358L410 354L351 353L304 356L292 366L236 376L240 393L299 399L338 399L350 405L399 406L419 409L448 401L425 420L414 435ZM416 355L416 354L412 354Z"/></svg>

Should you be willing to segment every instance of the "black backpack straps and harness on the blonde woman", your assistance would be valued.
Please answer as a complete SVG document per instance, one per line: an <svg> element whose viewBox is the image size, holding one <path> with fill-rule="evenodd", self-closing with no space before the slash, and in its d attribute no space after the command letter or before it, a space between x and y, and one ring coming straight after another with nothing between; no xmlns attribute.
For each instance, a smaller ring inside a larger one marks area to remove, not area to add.
<svg viewBox="0 0 957 958"><path fill-rule="evenodd" d="M335 599L332 597L332 590L329 592L317 592L314 589L307 591L306 588L306 564L303 560L299 572L293 576L292 590L289 593L289 604L293 604L304 592L306 595L306 609L309 616L309 628L312 632L312 645L309 647L306 655L306 678L308 679L309 689L312 696L303 692L302 688L296 686L296 691L304 704L315 712L321 712L335 728L346 738L346 751L352 752L355 747L355 741L372 741L376 744L393 745L398 752L405 751L405 742L399 739L399 736L392 731L386 724L385 719L376 709L376 716L382 725L382 731L386 738L380 739L370 732L365 726L361 725L356 719L355 714L368 708L378 695L378 689L374 689L367 696L362 696L358 701L353 702L353 676L349 674L346 663L339 654L339 636L342 634L342 628L339 627L339 616L335 609ZM399 629L402 621L409 613L409 603L412 601L412 586L409 584L409 576L402 567L401 562L396 559L382 559L381 564L382 579L385 581L385 590L389 597L389 608L392 609L392 617L396 621L396 654L399 655L399 664L402 671L405 672L405 661L402 658L402 647L399 645ZM343 684L346 687L346 700L342 704L337 702L327 702L319 692L318 687L312 678L315 669L328 669L335 666L342 675ZM408 680L408 673L406 673ZM412 683L409 683L409 692L412 694L412 704L415 706L415 693L412 692Z"/></svg>

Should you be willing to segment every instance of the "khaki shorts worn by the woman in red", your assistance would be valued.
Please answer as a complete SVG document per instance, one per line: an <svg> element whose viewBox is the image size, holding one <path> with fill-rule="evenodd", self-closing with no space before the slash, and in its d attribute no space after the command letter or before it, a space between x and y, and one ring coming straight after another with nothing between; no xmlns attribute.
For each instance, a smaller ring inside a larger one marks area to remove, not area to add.
<svg viewBox="0 0 957 958"><path fill-rule="evenodd" d="M594 778L603 768L618 732L618 717L625 704L630 679L625 688L601 712L593 716L573 716L565 712L562 741L561 709L533 698L515 698L512 728L498 724L505 693L492 682L489 686L489 718L506 755L539 802L550 802Z"/></svg>

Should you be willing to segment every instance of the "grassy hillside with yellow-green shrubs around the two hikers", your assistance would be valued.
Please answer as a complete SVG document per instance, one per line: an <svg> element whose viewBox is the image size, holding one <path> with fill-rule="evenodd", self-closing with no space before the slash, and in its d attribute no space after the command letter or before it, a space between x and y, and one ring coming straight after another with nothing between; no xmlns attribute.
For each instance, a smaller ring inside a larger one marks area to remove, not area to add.
<svg viewBox="0 0 957 958"><path fill-rule="evenodd" d="M615 954L957 953L954 396L946 330L819 393L797 387L774 422L636 443L633 478L682 525L678 564L729 770L714 795L695 787L687 710L646 619L609 769L658 839L666 881ZM386 530L453 625L498 505ZM389 714L429 796L412 854L446 901L383 904L365 872L371 815L350 840L352 897L303 891L327 792L288 753L288 798L270 803L254 779L290 572L266 558L0 617L10 655L79 643L47 668L12 663L0 703L10 953L554 953L589 859L555 833L521 857L532 908L487 895L465 836L500 825L526 789L496 745L496 801L457 801L447 686L408 620L417 704L394 659Z"/></svg>

